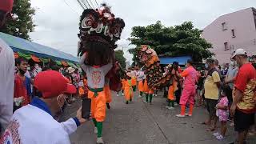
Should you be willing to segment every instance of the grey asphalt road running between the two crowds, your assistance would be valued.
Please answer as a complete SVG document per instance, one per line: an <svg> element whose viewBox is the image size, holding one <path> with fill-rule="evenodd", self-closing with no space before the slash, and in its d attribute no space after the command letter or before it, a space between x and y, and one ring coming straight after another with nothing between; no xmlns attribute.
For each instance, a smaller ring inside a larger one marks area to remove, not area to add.
<svg viewBox="0 0 256 144"><path fill-rule="evenodd" d="M134 100L126 105L123 96L117 97L113 92L111 109L106 110L106 121L103 122L103 140L106 144L218 144L234 142L236 134L234 127L228 126L226 138L218 141L206 131L207 126L201 124L206 117L206 109L196 107L192 117L177 118L180 109L167 110L166 98L162 94L153 98L153 104L142 102L138 94ZM144 100L144 99L143 99ZM63 119L75 115L81 100L77 100L66 108ZM229 125L229 124L228 124ZM78 130L70 135L73 144L95 144L93 122L79 126ZM256 136L249 136L247 142L256 143Z"/></svg>

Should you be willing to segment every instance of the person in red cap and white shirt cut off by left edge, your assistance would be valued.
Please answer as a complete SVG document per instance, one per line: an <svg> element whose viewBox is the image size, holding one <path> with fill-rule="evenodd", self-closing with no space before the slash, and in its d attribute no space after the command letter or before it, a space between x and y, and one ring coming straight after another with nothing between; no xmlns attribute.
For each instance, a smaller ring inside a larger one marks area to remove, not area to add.
<svg viewBox="0 0 256 144"><path fill-rule="evenodd" d="M10 16L14 0L0 0L0 30ZM0 134L13 114L14 52L0 38Z"/></svg>

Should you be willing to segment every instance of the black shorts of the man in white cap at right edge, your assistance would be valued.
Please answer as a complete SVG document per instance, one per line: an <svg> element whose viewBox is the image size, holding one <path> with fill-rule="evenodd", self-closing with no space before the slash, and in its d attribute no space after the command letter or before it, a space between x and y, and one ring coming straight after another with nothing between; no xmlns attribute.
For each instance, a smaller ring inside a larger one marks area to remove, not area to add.
<svg viewBox="0 0 256 144"><path fill-rule="evenodd" d="M234 113L234 130L242 132L249 130L250 126L254 125L254 114L246 114L240 110L235 110Z"/></svg>

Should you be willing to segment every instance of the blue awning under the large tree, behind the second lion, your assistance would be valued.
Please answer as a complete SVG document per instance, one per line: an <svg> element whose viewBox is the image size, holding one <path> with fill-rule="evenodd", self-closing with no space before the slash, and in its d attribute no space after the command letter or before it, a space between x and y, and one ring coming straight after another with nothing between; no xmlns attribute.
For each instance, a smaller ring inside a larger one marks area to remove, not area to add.
<svg viewBox="0 0 256 144"><path fill-rule="evenodd" d="M164 57L159 59L160 59L160 64L163 64L163 65L172 64L173 62L178 62L179 65L185 65L186 61L188 59L191 59L191 57L190 56Z"/></svg>

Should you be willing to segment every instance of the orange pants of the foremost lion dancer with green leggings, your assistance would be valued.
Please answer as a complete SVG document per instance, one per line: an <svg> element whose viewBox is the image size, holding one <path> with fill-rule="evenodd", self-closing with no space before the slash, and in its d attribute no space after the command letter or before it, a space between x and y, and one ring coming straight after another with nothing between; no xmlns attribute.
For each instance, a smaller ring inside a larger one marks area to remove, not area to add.
<svg viewBox="0 0 256 144"><path fill-rule="evenodd" d="M98 92L98 96L94 96L94 92L88 91L88 98L91 99L90 112L91 117L97 122L103 122L106 118L106 96L105 92Z"/></svg>

